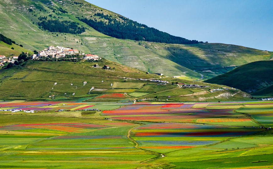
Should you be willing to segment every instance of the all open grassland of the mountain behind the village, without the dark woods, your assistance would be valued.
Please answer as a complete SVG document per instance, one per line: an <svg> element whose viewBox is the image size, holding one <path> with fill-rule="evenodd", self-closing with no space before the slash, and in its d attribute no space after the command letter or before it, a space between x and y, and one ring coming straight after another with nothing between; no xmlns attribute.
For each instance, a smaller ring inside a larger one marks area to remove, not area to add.
<svg viewBox="0 0 273 169"><path fill-rule="evenodd" d="M222 74L231 70L231 68L221 68L223 66L238 66L256 60L267 60L270 54L272 54L242 46L225 44L165 45L150 43L151 45L148 45L146 42L141 42L142 44L138 45L138 41L121 40L103 35L75 18L76 16L90 18L94 13L103 12L118 19L119 14L99 8L83 0L75 1L84 3L84 5L76 5L65 0L62 2L52 1L54 5L50 7L54 6L54 8L57 8L58 6L68 11L68 14L61 15L63 18L60 20L76 21L89 29L81 35L58 33L58 36L56 36L55 33L52 34L51 32L40 30L37 25L32 24L32 22L36 23L39 21L37 19L39 16L50 18L48 16L49 13L53 14L52 10L46 6L50 4L47 0L0 2L0 6L2 6L0 13L4 16L0 19L2 24L0 31L32 51L42 50L49 45L57 46L62 44L62 46L71 46L86 53L96 53L108 60L144 71L163 73L167 76L185 75L193 79L200 79L200 74L198 73L204 74L206 79L215 76L214 74ZM17 5L18 2L20 6ZM30 7L35 7L36 9L33 12L28 12L27 9ZM40 11L40 8L47 11ZM37 16L35 17L34 14ZM53 14L53 16L56 16L56 14ZM93 18L101 20L99 17ZM157 49L154 48L155 46L157 46ZM173 53L173 49L175 49L175 53ZM177 50L179 52L176 52ZM237 59L239 56L240 59ZM215 62L215 59L217 62ZM201 68L217 68L217 70L212 70L213 73L192 71Z"/></svg>

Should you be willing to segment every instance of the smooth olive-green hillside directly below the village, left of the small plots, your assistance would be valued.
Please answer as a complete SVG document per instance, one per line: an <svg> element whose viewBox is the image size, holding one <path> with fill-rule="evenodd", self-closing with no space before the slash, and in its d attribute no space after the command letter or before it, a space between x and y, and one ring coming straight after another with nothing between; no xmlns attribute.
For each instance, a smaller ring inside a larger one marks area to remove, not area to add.
<svg viewBox="0 0 273 169"><path fill-rule="evenodd" d="M127 78L159 78L158 75L146 74L135 68L104 60L99 65L108 64L112 69L93 68L94 63L85 62L41 62L28 61L25 68L14 66L1 69L0 97L10 99L49 99L94 97L111 88L111 83L123 82ZM115 67L115 68L114 68ZM86 81L87 84L83 85ZM54 83L57 82L57 85ZM130 81L126 82L130 83ZM73 84L73 85L71 85ZM89 90L103 89L103 91ZM66 93L66 94L64 94ZM75 93L75 95L72 95ZM88 94L89 93L89 94Z"/></svg>

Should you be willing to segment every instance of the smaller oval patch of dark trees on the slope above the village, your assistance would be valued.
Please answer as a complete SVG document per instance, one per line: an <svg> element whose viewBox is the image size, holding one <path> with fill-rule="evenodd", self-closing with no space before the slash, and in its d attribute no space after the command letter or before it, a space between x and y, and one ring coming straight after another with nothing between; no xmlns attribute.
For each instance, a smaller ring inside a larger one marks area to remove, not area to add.
<svg viewBox="0 0 273 169"><path fill-rule="evenodd" d="M78 27L79 23L71 21L59 21L59 20L43 20L38 22L38 25L45 30L50 32L60 32L60 33L71 33L71 34L81 34L85 32L85 27Z"/></svg>

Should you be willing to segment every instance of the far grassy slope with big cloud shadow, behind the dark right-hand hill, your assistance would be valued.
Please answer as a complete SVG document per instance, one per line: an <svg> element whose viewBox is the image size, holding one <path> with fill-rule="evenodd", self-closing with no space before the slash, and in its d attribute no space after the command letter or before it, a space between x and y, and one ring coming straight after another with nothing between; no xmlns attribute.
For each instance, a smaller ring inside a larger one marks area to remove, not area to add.
<svg viewBox="0 0 273 169"><path fill-rule="evenodd" d="M198 73L204 79L226 73L235 66L268 60L273 52L221 43L163 44L142 42L151 51Z"/></svg>

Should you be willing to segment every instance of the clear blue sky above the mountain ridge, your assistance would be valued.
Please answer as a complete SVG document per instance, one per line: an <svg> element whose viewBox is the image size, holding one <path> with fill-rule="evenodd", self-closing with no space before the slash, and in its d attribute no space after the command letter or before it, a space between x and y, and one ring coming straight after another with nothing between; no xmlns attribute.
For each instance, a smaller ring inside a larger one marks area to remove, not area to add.
<svg viewBox="0 0 273 169"><path fill-rule="evenodd" d="M273 0L86 0L190 40L273 51Z"/></svg>

